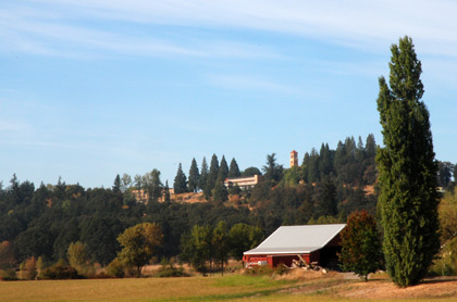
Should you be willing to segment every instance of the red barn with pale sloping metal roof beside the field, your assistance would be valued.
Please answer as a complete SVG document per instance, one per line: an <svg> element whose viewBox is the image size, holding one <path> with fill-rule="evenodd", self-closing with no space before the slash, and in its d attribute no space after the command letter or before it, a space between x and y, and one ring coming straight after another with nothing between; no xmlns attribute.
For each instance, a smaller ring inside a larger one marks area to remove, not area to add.
<svg viewBox="0 0 457 302"><path fill-rule="evenodd" d="M339 232L345 224L282 226L270 235L256 249L244 252L246 266L279 264L292 265L293 260L300 255L308 263L317 262L328 266L336 261L341 251Z"/></svg>

